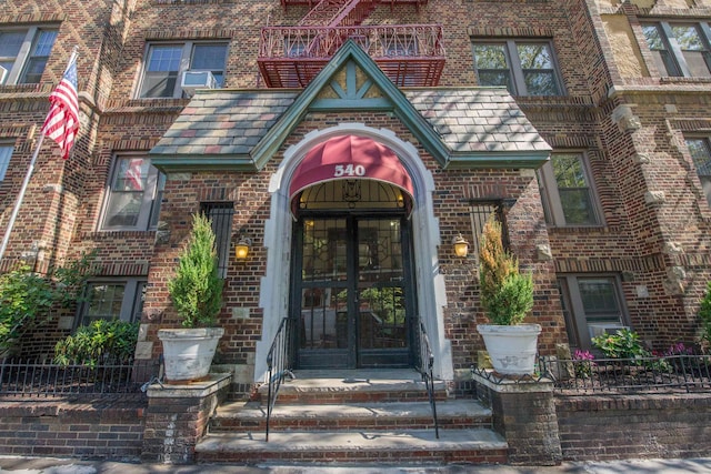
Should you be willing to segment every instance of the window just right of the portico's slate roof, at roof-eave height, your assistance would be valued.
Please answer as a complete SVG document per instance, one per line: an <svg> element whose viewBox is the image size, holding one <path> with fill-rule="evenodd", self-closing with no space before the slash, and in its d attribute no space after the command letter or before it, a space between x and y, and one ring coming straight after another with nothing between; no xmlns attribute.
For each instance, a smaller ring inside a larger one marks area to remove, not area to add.
<svg viewBox="0 0 711 474"><path fill-rule="evenodd" d="M553 153L539 171L539 186L548 223L557 226L600 225L585 153Z"/></svg>

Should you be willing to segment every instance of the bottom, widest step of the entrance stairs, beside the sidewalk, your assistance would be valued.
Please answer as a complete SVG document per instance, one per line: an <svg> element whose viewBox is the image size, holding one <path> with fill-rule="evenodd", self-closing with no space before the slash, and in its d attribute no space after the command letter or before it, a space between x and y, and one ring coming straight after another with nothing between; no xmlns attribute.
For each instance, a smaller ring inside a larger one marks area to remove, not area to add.
<svg viewBox="0 0 711 474"><path fill-rule="evenodd" d="M485 428L397 432L289 431L210 433L196 446L197 463L378 462L505 463L507 442Z"/></svg>

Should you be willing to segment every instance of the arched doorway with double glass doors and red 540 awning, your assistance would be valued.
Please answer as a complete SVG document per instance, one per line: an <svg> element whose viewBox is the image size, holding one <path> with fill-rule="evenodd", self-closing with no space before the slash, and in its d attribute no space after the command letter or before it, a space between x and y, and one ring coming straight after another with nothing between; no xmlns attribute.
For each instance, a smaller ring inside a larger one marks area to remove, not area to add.
<svg viewBox="0 0 711 474"><path fill-rule="evenodd" d="M413 365L412 184L397 155L332 138L306 154L290 195L296 366Z"/></svg>

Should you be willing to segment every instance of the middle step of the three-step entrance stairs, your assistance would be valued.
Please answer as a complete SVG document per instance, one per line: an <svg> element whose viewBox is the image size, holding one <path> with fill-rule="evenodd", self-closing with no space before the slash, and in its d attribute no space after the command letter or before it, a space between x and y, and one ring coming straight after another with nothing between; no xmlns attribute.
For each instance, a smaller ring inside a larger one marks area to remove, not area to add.
<svg viewBox="0 0 711 474"><path fill-rule="evenodd" d="M281 402L281 399L280 399ZM491 427L491 410L473 400L437 403L442 430ZM267 406L257 402L229 403L218 407L211 432L264 431ZM299 405L277 403L270 430L415 430L432 428L429 402L350 403Z"/></svg>

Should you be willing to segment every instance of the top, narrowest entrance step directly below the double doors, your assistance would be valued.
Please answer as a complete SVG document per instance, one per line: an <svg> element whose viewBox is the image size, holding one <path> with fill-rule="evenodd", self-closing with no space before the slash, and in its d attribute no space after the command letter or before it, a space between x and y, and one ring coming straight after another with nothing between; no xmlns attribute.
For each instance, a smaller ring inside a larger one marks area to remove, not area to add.
<svg viewBox="0 0 711 474"><path fill-rule="evenodd" d="M418 372L397 370L294 371L279 390L278 404L344 404L427 401L427 386ZM259 394L267 402L268 386ZM437 400L447 399L444 382L434 382Z"/></svg>

